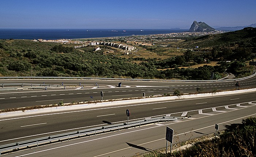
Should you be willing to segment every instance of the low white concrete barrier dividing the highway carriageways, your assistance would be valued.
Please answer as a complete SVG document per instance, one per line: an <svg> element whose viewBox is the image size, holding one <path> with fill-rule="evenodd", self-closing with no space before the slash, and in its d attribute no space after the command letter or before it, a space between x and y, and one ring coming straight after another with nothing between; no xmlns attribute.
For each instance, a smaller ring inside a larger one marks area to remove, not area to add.
<svg viewBox="0 0 256 157"><path fill-rule="evenodd" d="M203 98L203 97L212 97L212 96L224 96L229 94L239 94L239 93L248 93L256 92L256 88L252 89L242 89L242 90L232 90L226 92L216 92L216 93L201 93L201 94L188 94L177 96L167 96L167 97L152 97L152 98L140 98L132 100L119 100L119 101L108 101L108 102L95 102L79 105L67 105L67 106L57 106L41 109L32 109L32 110L19 110L13 112L2 112L0 113L0 118L14 117L14 116L25 116L32 114L41 114L41 113L52 113L68 110L78 110L78 109L88 109L88 108L97 108L97 107L106 107L106 106L117 106L124 104L135 104L135 103L146 103L146 102L156 102L156 101L166 101L166 100L179 100L179 99L188 99L188 98Z"/></svg>

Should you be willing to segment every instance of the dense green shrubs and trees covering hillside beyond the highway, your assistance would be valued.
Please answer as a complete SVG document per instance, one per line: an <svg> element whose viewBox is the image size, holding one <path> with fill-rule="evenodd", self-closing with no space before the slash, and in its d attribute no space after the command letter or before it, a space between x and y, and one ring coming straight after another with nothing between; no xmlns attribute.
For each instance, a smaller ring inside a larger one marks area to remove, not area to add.
<svg viewBox="0 0 256 157"><path fill-rule="evenodd" d="M250 31L251 33L248 33ZM245 36L240 34L245 33ZM183 55L167 59L124 58L102 55L94 52L94 47L74 49L72 45L58 43L38 43L31 40L0 40L0 76L76 76L76 77L128 77L147 79L210 80L223 76L230 69L236 76L250 75L245 61L251 60L255 51L255 29L243 29L211 37L211 41L221 43L210 51L186 51ZM240 36L238 36L239 34ZM225 37L225 39L223 39ZM228 38L229 40L227 40ZM237 43L238 39L240 43ZM209 44L209 36L199 37L184 44ZM226 45L223 43L225 43ZM230 41L236 42L231 47ZM246 46L244 45L246 42ZM192 42L192 43L191 43ZM149 47L146 47L150 49ZM152 49L152 48L151 48ZM219 61L219 65L204 65L199 68L178 68ZM225 62L231 61L231 62ZM161 70L162 69L162 70Z"/></svg>

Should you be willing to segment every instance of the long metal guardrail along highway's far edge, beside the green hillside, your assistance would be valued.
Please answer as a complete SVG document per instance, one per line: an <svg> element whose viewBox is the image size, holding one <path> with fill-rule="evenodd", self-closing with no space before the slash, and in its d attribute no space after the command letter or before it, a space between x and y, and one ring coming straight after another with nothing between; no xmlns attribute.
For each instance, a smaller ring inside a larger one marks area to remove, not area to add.
<svg viewBox="0 0 256 157"><path fill-rule="evenodd" d="M229 81L241 81L244 79L249 79L253 76L256 76L256 73L253 72L252 75L239 78L239 79L229 79L229 80L156 80L156 79L120 79L120 78L102 78L102 77L0 77L0 79L98 79L98 80L128 80L128 81L170 81L170 82L229 82Z"/></svg>

